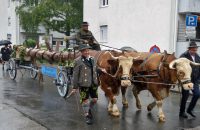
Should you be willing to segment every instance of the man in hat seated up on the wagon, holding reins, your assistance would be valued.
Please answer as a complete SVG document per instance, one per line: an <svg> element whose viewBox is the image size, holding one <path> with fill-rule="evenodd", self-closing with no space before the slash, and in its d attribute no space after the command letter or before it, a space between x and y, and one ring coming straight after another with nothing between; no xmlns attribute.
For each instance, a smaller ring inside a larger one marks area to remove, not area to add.
<svg viewBox="0 0 200 130"><path fill-rule="evenodd" d="M81 25L81 29L76 35L76 39L78 41L78 44L89 44L93 50L101 50L99 43L94 38L92 32L88 30L88 22L83 22Z"/></svg>

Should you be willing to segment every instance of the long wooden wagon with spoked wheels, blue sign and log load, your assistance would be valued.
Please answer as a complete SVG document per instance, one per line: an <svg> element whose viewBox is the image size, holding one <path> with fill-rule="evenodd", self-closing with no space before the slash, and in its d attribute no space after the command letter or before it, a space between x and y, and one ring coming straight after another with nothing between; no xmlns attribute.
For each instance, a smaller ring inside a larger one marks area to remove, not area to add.
<svg viewBox="0 0 200 130"><path fill-rule="evenodd" d="M34 53L36 57L41 56L43 60L48 59L50 62L38 63L37 58L31 53ZM75 47L71 49L68 48L67 52L62 53L26 48L26 55L24 55L23 60L18 53L15 54L14 58L9 60L8 73L10 79L15 80L18 72L22 69L25 70L25 72L28 70L32 79L36 79L38 75L48 76L53 79L52 81L57 87L59 95L61 97L66 97L69 89L72 88L75 53ZM54 62L53 59L55 59ZM60 60L58 59L64 60L65 64L59 64Z"/></svg>

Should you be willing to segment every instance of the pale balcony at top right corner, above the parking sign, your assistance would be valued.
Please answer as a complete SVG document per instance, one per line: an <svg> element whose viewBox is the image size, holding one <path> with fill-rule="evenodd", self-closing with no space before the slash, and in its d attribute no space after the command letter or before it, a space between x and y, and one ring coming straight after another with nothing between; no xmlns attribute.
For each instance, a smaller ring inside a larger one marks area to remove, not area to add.
<svg viewBox="0 0 200 130"><path fill-rule="evenodd" d="M179 0L179 13L200 13L200 0Z"/></svg>

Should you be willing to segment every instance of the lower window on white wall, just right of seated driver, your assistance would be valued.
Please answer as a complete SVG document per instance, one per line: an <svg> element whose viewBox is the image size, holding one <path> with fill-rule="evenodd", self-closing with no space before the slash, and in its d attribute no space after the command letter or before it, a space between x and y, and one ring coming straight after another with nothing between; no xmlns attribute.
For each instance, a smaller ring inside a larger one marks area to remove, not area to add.
<svg viewBox="0 0 200 130"><path fill-rule="evenodd" d="M108 26L103 25L100 26L100 42L107 42L108 41Z"/></svg>

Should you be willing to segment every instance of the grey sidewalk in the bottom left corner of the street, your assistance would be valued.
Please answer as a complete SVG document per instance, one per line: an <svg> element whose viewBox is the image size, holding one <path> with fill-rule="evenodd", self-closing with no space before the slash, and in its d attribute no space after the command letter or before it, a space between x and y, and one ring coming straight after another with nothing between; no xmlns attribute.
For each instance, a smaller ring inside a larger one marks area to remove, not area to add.
<svg viewBox="0 0 200 130"><path fill-rule="evenodd" d="M46 130L11 106L0 103L0 130Z"/></svg>

